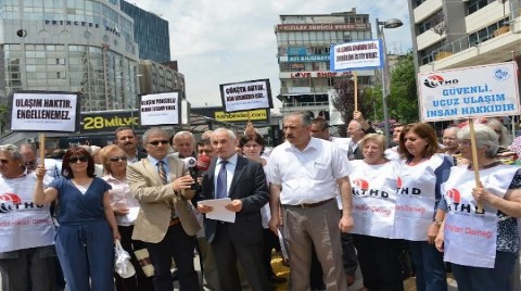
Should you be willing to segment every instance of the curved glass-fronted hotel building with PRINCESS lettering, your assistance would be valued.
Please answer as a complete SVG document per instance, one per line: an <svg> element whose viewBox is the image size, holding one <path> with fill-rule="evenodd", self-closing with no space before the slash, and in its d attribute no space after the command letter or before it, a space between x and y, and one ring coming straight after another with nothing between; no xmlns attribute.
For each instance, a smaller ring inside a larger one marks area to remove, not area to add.
<svg viewBox="0 0 521 291"><path fill-rule="evenodd" d="M81 92L81 111L135 107L138 45L118 0L0 0L0 96Z"/></svg>

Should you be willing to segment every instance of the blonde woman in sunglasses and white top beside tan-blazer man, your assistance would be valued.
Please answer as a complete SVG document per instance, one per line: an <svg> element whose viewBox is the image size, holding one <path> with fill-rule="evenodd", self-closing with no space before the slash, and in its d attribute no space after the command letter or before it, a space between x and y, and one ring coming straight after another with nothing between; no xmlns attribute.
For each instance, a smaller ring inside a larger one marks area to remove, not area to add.
<svg viewBox="0 0 521 291"><path fill-rule="evenodd" d="M122 246L130 254L136 276L122 278L115 275L116 290L136 291L153 290L152 279L147 277L134 254L134 251L144 249L142 241L132 240L134 223L138 216L139 201L130 192L127 181L127 155L118 146L104 147L100 153L103 165L103 179L112 186L109 191L112 210L116 216L117 228L122 236Z"/></svg>

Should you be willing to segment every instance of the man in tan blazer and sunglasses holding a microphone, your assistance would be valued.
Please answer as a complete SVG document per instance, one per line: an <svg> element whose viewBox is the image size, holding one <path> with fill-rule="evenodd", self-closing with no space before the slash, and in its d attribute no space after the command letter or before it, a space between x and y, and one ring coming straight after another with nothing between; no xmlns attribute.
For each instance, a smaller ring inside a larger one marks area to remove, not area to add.
<svg viewBox="0 0 521 291"><path fill-rule="evenodd" d="M139 200L132 239L145 242L154 266L154 290L173 291L171 258L179 270L181 290L200 290L193 266L195 233L201 226L190 199L194 182L182 160L168 155L168 135L153 127L143 135L147 159L128 165L127 180Z"/></svg>

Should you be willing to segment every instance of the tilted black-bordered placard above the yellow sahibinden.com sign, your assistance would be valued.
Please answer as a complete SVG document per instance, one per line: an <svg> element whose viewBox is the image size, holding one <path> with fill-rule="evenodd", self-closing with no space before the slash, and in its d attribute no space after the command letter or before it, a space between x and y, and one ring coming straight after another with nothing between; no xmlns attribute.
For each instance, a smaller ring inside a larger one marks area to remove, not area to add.
<svg viewBox="0 0 521 291"><path fill-rule="evenodd" d="M219 87L225 112L271 109L274 106L269 79L223 84Z"/></svg>

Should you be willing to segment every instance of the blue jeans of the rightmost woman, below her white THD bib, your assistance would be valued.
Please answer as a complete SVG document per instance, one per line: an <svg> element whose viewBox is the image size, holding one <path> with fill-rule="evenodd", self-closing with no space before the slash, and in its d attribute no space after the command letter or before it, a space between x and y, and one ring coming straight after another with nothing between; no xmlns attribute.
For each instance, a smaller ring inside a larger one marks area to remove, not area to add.
<svg viewBox="0 0 521 291"><path fill-rule="evenodd" d="M453 274L459 291L510 291L510 276L517 253L496 252L494 268L453 264Z"/></svg>

